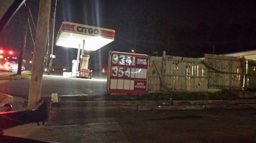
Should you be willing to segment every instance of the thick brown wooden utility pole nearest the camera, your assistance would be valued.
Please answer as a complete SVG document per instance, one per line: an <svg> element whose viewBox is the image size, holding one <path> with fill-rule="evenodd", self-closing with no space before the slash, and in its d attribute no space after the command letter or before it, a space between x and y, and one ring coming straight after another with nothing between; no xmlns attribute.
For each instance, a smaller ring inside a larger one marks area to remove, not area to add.
<svg viewBox="0 0 256 143"><path fill-rule="evenodd" d="M49 34L49 17L51 0L40 0L34 56L32 60L32 74L29 85L28 109L33 109L39 103L42 90L44 72L44 54Z"/></svg>

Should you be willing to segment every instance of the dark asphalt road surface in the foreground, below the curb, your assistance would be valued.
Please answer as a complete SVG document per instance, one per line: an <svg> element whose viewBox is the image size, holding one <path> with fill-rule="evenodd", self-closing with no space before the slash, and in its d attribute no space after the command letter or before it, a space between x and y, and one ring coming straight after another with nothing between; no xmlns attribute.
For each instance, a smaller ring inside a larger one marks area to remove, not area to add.
<svg viewBox="0 0 256 143"><path fill-rule="evenodd" d="M45 126L32 123L4 134L60 143L256 143L256 111L52 109Z"/></svg>

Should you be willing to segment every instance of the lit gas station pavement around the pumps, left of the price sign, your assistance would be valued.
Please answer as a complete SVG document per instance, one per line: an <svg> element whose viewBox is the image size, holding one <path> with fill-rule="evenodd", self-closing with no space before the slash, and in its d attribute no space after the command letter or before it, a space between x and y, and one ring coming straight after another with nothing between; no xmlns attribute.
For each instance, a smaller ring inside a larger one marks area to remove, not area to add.
<svg viewBox="0 0 256 143"><path fill-rule="evenodd" d="M0 80L0 93L28 98L29 81ZM103 95L106 93L107 79L102 73L94 73L93 79L64 78L59 74L44 74L42 96L58 95Z"/></svg>

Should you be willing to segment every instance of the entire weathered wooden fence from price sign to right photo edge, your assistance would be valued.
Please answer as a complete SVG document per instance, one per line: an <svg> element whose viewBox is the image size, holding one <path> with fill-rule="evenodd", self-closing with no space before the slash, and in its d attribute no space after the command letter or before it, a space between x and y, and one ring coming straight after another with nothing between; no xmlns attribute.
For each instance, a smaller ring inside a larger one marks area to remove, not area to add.
<svg viewBox="0 0 256 143"><path fill-rule="evenodd" d="M205 59L151 56L148 92L256 89L256 61L205 54Z"/></svg>

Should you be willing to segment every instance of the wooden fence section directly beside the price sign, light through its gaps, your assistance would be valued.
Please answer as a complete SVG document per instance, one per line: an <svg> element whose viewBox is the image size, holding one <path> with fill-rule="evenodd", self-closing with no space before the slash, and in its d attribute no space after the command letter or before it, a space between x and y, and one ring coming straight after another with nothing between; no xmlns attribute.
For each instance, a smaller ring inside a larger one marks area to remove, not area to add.
<svg viewBox="0 0 256 143"><path fill-rule="evenodd" d="M179 56L151 56L148 92L207 91L207 67L201 61Z"/></svg>

